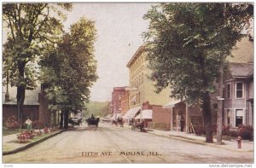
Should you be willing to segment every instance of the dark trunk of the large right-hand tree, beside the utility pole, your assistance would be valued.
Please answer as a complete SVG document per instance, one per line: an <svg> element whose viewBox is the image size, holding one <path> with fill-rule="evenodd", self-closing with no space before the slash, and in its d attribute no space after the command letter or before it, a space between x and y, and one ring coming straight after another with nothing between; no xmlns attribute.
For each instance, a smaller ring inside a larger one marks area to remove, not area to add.
<svg viewBox="0 0 256 168"><path fill-rule="evenodd" d="M211 109L211 98L209 93L205 93L203 96L203 116L206 129L206 142L212 143L212 109Z"/></svg>

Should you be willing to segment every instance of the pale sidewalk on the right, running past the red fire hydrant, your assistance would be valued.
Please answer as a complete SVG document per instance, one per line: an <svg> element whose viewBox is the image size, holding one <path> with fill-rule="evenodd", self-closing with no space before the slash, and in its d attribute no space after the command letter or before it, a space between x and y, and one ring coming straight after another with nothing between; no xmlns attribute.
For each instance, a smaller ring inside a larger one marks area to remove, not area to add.
<svg viewBox="0 0 256 168"><path fill-rule="evenodd" d="M131 129L131 125L124 125L126 128ZM168 137L184 142L192 142L196 144L201 144L201 145L207 145L211 146L213 148L224 148L227 150L231 151L238 151L238 152L253 152L254 151L254 142L250 142L247 140L241 141L241 148L238 148L236 140L231 140L231 141L222 141L224 144L223 145L217 145L216 139L213 139L213 143L207 143L206 138L203 136L196 136L195 134L189 134L185 132L180 132L180 131L165 131L165 130L148 130L148 134L153 134L155 136L163 136L163 137Z"/></svg>

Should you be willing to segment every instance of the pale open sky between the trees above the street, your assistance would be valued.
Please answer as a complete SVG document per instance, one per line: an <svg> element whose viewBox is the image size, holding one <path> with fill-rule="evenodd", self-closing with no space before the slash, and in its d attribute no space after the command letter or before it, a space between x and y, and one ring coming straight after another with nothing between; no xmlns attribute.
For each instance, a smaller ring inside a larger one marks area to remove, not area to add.
<svg viewBox="0 0 256 168"><path fill-rule="evenodd" d="M97 79L91 88L90 101L111 101L113 87L129 85L126 67L143 44L142 33L148 29L143 14L152 3L73 3L64 22L68 32L81 17L96 21Z"/></svg>

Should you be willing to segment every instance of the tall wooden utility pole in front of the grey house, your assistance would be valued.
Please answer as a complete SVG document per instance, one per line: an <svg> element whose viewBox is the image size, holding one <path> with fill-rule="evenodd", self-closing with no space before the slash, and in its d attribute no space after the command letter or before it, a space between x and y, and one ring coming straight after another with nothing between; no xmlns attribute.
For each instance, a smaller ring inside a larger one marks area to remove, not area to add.
<svg viewBox="0 0 256 168"><path fill-rule="evenodd" d="M226 15L226 3L224 3L224 25L225 25L225 15ZM218 118L217 118L217 144L222 144L222 125L223 125L223 74L224 74L224 59L221 58L219 66L219 76L218 76Z"/></svg>

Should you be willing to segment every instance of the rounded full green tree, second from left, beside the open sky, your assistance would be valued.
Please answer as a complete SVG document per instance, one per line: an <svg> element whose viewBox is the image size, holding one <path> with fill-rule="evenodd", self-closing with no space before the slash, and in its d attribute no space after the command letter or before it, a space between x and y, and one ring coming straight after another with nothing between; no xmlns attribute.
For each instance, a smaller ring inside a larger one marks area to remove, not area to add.
<svg viewBox="0 0 256 168"><path fill-rule="evenodd" d="M50 50L40 62L41 80L48 85L46 93L50 110L61 111L61 115L65 116L66 129L69 113L82 111L84 102L89 101L90 87L97 79L95 23L81 18L70 30L61 38L56 49Z"/></svg>

